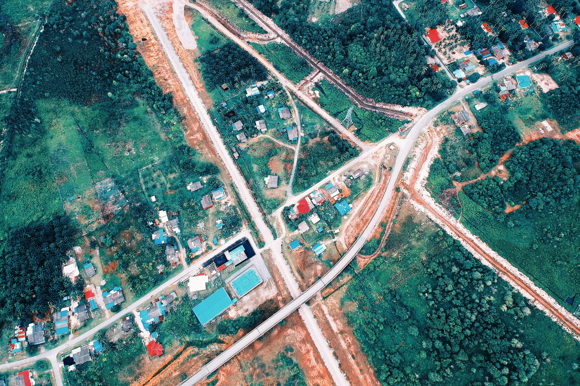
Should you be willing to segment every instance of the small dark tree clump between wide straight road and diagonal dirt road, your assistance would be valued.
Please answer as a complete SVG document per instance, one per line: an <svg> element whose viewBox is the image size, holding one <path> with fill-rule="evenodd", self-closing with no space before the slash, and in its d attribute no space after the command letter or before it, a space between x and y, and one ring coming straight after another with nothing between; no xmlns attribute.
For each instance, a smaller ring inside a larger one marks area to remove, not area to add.
<svg viewBox="0 0 580 386"><path fill-rule="evenodd" d="M266 68L232 41L227 41L219 50L206 53L200 61L204 79L214 87L223 83L237 87L240 82L268 77Z"/></svg>

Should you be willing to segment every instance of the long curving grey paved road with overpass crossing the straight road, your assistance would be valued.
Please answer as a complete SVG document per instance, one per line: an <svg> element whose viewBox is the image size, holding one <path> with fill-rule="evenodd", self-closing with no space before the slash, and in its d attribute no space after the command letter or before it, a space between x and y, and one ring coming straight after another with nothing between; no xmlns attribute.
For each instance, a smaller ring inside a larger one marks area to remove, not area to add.
<svg viewBox="0 0 580 386"><path fill-rule="evenodd" d="M528 60L525 60L521 63L511 65L507 67L503 71L500 71L495 74L495 78L502 78L503 76L516 71L517 69L526 67L528 64L534 63L534 61L542 59L543 57L552 54L554 52L558 52L567 48L574 44L573 41L566 42L563 45L558 47L554 47L548 51L540 53ZM284 320L288 317L293 311L297 310L302 304L306 303L307 300L314 297L318 291L321 291L325 286L327 286L343 269L345 269L350 262L354 259L357 255L358 251L362 248L364 243L367 241L367 238L371 235L372 229L380 221L380 217L382 212L385 210L387 203L393 194L393 189L395 182L398 181L398 175L400 174L401 170L403 169L403 165L405 160L407 159L407 155L411 151L412 145L415 142L415 139L418 137L419 133L425 128L427 123L432 120L434 117L437 116L438 113L444 111L448 108L453 102L456 100L461 100L465 95L471 93L473 90L478 89L481 86L484 86L487 83L492 82L491 76L488 78L481 79L476 84L470 84L469 86L463 88L459 93L453 95L452 97L448 98L444 102L441 102L437 106L435 106L432 110L427 112L423 115L415 125L409 130L407 138L405 139L404 145L401 146L400 152L398 153L397 160L395 161L395 165L393 166L393 173L391 174L391 179L389 184L387 185L387 189L385 195L383 196L382 200L380 201L379 207L376 209L375 215L372 217L371 221L368 223L367 227L365 227L364 231L362 232L361 236L357 238L354 242L353 246L346 252L346 254L336 262L334 266L326 273L324 276L320 278L316 283L311 285L302 295L296 297L292 300L292 302L288 303L286 306L282 307L280 311L276 314L272 315L270 318L266 319L262 324L258 327L253 329L247 335L242 337L240 340L235 342L230 347L226 348L221 354L216 356L216 358L212 359L209 363L202 366L197 373L195 373L190 378L187 378L183 381L179 386L193 386L197 384L199 381L204 379L207 374L214 372L224 363L229 361L233 358L234 355L238 354L238 352L242 351L245 347L251 344L254 340L258 339L258 337L262 336L266 332L268 332L271 328L277 325L278 322ZM296 197L295 197L296 198Z"/></svg>

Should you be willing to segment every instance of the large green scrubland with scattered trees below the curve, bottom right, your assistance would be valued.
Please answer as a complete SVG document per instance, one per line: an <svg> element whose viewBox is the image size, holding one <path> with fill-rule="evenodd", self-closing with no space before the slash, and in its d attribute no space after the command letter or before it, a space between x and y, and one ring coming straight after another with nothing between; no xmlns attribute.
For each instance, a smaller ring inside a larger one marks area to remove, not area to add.
<svg viewBox="0 0 580 386"><path fill-rule="evenodd" d="M580 380L572 336L420 214L400 216L385 247L342 299L382 384Z"/></svg>

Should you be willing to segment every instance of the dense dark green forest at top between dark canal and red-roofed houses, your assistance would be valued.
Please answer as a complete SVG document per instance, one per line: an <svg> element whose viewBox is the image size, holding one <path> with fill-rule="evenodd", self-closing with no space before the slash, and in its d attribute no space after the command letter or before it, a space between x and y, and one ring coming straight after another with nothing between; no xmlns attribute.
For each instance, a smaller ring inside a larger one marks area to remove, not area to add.
<svg viewBox="0 0 580 386"><path fill-rule="evenodd" d="M454 90L447 76L427 67L420 24L401 21L390 3L364 0L323 25L308 16L308 1L283 0L275 21L362 95L430 108Z"/></svg>

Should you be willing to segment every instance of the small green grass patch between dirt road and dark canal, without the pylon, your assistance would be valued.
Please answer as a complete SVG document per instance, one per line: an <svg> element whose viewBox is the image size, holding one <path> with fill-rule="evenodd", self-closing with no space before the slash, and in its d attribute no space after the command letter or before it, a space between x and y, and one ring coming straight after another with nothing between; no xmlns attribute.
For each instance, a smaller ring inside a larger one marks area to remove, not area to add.
<svg viewBox="0 0 580 386"><path fill-rule="evenodd" d="M292 83L299 83L312 68L307 61L299 58L286 45L281 43L268 43L266 45L251 43L263 57L271 61L274 67L282 73Z"/></svg>

